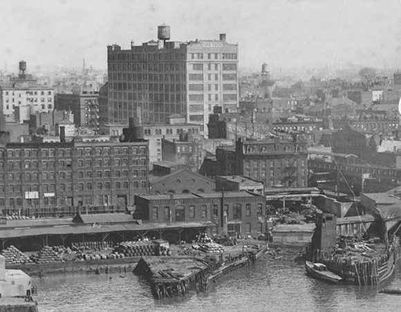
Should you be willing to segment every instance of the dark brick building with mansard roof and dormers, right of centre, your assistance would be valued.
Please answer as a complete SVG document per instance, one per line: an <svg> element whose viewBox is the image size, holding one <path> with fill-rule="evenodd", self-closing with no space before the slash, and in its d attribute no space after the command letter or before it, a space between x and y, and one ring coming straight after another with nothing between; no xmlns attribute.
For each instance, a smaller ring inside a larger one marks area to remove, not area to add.
<svg viewBox="0 0 401 312"><path fill-rule="evenodd" d="M218 173L244 175L270 186L308 185L308 151L304 135L277 135L271 139L236 141L216 148ZM210 176L210 174L207 174Z"/></svg>

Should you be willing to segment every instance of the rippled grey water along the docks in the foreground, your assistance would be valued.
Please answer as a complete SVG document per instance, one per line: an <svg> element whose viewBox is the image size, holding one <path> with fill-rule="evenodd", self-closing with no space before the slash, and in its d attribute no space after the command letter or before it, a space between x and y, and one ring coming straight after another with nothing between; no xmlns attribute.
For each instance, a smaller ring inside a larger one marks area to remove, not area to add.
<svg viewBox="0 0 401 312"><path fill-rule="evenodd" d="M313 280L304 265L263 257L213 284L205 293L154 300L149 284L132 273L33 279L39 312L106 311L401 311L401 295L377 286L329 285ZM401 270L383 287L401 289Z"/></svg>

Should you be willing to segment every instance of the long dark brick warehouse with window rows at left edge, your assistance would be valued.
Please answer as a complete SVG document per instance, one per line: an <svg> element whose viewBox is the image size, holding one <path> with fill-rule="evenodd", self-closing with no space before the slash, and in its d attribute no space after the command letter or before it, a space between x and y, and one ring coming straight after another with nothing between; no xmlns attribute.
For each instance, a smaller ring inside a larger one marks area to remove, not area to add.
<svg viewBox="0 0 401 312"><path fill-rule="evenodd" d="M0 147L0 210L127 206L148 189L146 141Z"/></svg>

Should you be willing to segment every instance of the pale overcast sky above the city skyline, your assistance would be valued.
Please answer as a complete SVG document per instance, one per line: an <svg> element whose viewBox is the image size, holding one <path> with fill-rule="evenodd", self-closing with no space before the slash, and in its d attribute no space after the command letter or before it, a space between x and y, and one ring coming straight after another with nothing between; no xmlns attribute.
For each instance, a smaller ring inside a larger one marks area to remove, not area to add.
<svg viewBox="0 0 401 312"><path fill-rule="evenodd" d="M239 43L240 66L401 68L401 0L1 0L0 68L106 68L106 46L157 39ZM338 39L338 40L337 40Z"/></svg>

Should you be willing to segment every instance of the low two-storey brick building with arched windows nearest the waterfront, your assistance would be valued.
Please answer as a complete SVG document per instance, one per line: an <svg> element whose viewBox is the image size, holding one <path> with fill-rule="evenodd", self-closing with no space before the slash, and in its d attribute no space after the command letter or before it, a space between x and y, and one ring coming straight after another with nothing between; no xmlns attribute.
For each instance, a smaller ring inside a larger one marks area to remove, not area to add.
<svg viewBox="0 0 401 312"><path fill-rule="evenodd" d="M265 197L246 191L136 195L135 204L149 222L213 222L230 236L265 233Z"/></svg>

